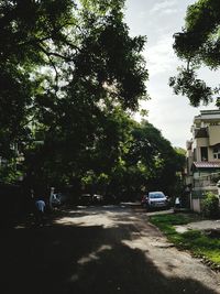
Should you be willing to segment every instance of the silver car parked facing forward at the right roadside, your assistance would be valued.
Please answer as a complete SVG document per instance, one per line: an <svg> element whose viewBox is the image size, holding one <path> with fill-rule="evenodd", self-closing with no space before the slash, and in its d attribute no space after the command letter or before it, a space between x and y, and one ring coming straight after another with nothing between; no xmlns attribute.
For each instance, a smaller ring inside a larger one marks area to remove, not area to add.
<svg viewBox="0 0 220 294"><path fill-rule="evenodd" d="M166 195L163 192L158 190L158 192L150 192L147 195L145 195L144 206L148 209L168 208L169 204Z"/></svg>

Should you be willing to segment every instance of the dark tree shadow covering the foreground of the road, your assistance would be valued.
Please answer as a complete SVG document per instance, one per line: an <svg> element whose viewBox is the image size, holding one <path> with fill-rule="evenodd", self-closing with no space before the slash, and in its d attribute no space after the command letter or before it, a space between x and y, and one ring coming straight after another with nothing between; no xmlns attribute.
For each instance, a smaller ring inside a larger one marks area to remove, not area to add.
<svg viewBox="0 0 220 294"><path fill-rule="evenodd" d="M6 230L1 250L2 293L216 293L193 277L163 275L147 252L124 243L135 238L135 229L131 228L133 219L127 218L123 211L121 217L105 211L114 225L86 226L80 218L89 213L81 210L66 214L68 218L79 219L76 225L61 221L44 228ZM98 216L96 210L94 215ZM91 216L92 209L88 217Z"/></svg>

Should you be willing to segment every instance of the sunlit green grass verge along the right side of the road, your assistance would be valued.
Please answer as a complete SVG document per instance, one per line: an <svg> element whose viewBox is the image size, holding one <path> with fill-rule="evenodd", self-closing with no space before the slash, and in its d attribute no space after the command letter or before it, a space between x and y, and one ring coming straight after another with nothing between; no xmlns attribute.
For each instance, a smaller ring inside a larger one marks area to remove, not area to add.
<svg viewBox="0 0 220 294"><path fill-rule="evenodd" d="M220 264L220 239L211 238L199 230L179 233L174 226L186 225L199 220L194 214L155 215L150 221L158 227L177 248L189 250L197 257L204 257L216 264Z"/></svg>

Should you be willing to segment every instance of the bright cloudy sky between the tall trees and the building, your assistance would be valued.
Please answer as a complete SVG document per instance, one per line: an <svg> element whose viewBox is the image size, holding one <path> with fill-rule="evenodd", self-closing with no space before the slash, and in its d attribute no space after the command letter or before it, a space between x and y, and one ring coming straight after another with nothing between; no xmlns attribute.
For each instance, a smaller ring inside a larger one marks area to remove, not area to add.
<svg viewBox="0 0 220 294"><path fill-rule="evenodd" d="M148 110L147 120L162 131L173 146L186 148L191 139L190 127L200 110L216 109L215 104L194 108L187 97L176 96L168 86L183 63L176 57L173 35L182 31L187 7L195 0L127 0L125 23L130 35L145 35L147 43L142 52L150 78L146 83L151 100L141 108ZM200 70L208 85L219 85L219 72ZM139 117L136 117L139 120Z"/></svg>

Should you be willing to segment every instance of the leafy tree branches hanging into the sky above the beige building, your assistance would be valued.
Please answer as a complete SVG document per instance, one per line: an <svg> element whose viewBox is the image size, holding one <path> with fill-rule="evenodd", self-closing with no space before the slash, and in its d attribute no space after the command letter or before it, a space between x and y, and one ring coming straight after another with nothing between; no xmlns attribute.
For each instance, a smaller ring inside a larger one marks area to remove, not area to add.
<svg viewBox="0 0 220 294"><path fill-rule="evenodd" d="M207 66L217 70L220 66L220 7L218 0L199 0L187 9L185 28L174 35L174 50L187 66L169 78L175 94L189 98L193 106L212 101L220 88L211 88L198 78L197 70ZM219 105L217 97L216 105Z"/></svg>

